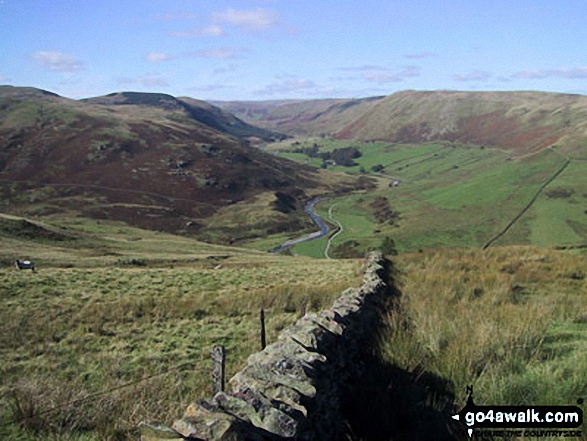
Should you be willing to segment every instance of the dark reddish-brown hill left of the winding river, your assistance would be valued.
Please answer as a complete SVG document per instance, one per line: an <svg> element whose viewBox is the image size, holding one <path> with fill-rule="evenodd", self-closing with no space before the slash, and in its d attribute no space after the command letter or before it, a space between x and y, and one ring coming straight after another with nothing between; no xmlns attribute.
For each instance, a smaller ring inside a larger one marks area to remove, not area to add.
<svg viewBox="0 0 587 441"><path fill-rule="evenodd" d="M206 218L236 202L277 191L301 200L320 187L314 170L232 136L269 132L199 103L143 93L75 101L0 87L2 210L71 211L196 233ZM279 224L304 219L301 209L277 214Z"/></svg>

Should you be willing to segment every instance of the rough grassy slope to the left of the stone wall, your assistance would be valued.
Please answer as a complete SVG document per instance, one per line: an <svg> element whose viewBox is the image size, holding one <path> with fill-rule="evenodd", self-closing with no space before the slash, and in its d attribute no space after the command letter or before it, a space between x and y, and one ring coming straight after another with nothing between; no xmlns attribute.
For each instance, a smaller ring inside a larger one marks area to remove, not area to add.
<svg viewBox="0 0 587 441"><path fill-rule="evenodd" d="M26 234L31 229L34 237ZM37 271L18 271L16 258ZM360 283L361 262L220 247L122 223L0 219L0 437L136 439L210 394L304 310Z"/></svg>

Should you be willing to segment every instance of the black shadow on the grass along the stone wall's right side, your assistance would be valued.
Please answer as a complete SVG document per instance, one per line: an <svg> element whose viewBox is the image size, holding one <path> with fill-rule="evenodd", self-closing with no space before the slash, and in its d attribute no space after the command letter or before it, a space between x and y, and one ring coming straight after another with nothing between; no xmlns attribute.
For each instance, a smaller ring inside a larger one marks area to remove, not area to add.
<svg viewBox="0 0 587 441"><path fill-rule="evenodd" d="M389 262L390 303L395 309L402 293L398 274ZM341 407L346 419L346 441L461 441L464 427L451 416L453 384L422 369L406 371L377 354L374 339L365 347L362 374L347 385Z"/></svg>

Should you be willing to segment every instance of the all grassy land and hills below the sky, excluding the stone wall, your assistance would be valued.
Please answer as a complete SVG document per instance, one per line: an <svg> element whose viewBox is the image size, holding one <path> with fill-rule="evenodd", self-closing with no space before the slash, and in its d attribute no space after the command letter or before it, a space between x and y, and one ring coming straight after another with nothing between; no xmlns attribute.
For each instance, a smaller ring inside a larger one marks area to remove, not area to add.
<svg viewBox="0 0 587 441"><path fill-rule="evenodd" d="M359 286L376 249L401 294L377 356L428 403L462 406L470 384L491 404L574 403L586 117L584 96L539 92L0 87L0 433L136 439L140 421L173 421L211 393L212 345L234 374L261 309L274 341Z"/></svg>

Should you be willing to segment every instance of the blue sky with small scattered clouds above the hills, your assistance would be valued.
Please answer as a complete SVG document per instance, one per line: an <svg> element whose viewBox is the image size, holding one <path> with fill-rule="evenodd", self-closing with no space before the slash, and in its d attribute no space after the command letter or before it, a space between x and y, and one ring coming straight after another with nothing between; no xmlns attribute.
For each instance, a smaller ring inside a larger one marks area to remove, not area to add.
<svg viewBox="0 0 587 441"><path fill-rule="evenodd" d="M585 0L0 0L0 84L70 98L587 94Z"/></svg>

